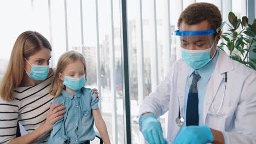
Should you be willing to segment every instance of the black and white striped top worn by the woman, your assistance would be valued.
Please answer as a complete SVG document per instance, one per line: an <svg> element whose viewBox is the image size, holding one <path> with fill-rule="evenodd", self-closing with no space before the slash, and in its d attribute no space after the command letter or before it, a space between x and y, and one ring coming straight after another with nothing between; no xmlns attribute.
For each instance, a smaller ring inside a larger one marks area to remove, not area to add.
<svg viewBox="0 0 256 144"><path fill-rule="evenodd" d="M16 126L19 122L31 133L46 120L46 112L50 109L53 95L49 94L49 86L53 81L53 73L46 80L31 87L14 89L14 100L4 101L0 97L0 143L8 143L16 137ZM36 143L47 143L50 132Z"/></svg>

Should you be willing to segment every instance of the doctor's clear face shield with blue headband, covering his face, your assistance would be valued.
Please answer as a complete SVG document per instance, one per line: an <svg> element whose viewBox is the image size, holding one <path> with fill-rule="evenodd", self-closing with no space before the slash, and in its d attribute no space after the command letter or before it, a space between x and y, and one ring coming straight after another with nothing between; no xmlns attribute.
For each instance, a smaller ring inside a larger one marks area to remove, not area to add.
<svg viewBox="0 0 256 144"><path fill-rule="evenodd" d="M175 31L172 33L179 45L182 58L194 69L200 69L211 61L216 52L215 29L201 31Z"/></svg>

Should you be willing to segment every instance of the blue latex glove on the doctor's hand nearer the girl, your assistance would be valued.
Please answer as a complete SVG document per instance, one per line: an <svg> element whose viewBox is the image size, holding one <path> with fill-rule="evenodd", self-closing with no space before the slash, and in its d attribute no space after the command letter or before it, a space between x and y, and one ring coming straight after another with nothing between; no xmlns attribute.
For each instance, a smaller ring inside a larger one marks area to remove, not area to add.
<svg viewBox="0 0 256 144"><path fill-rule="evenodd" d="M162 127L154 115L147 115L141 119L142 134L149 144L168 143L162 135Z"/></svg>

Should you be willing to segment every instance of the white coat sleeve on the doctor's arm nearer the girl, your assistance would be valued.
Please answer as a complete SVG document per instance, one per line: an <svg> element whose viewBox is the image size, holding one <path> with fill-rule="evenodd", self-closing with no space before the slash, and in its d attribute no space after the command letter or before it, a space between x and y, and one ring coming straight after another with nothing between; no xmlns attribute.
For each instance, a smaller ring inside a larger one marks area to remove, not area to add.
<svg viewBox="0 0 256 144"><path fill-rule="evenodd" d="M169 109L170 91L171 91L171 77L173 75L173 67L162 80L155 91L150 93L142 102L139 109L139 117L143 113L152 112L156 117L164 115Z"/></svg>

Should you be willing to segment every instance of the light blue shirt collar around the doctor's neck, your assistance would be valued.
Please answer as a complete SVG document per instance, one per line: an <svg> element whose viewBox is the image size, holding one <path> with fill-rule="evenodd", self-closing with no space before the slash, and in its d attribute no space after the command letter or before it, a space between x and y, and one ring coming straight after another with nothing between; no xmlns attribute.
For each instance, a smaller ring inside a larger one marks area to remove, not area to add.
<svg viewBox="0 0 256 144"><path fill-rule="evenodd" d="M197 71L199 73L199 75L201 76L202 81L207 83L212 76L213 70L215 69L218 57L219 57L219 50L217 49L216 56L210 62L208 62L205 65L205 67L202 67L199 70L195 70L195 69L191 68L189 71L189 77L192 75L192 73L194 71Z"/></svg>

